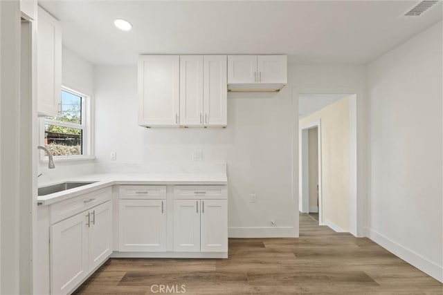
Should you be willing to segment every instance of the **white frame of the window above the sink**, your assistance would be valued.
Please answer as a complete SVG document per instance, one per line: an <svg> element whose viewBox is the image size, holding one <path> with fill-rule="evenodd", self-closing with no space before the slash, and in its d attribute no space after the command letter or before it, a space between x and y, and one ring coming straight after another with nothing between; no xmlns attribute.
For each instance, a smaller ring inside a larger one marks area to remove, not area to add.
<svg viewBox="0 0 443 295"><path fill-rule="evenodd" d="M91 95L75 91L72 88L62 86L62 91L72 93L73 95L78 95L82 97L82 113L81 124L75 124L71 122L62 122L57 120L51 120L48 117L40 118L39 124L39 144L44 146L44 135L45 135L45 124L63 126L68 128L80 129L82 130L82 155L54 155L53 159L55 162L59 161L82 161L82 160L94 160L96 157L93 155L93 120L92 120L92 103ZM60 92L60 99L62 99L62 92ZM48 162L48 157L45 155L44 151L39 150L39 160L40 162Z"/></svg>

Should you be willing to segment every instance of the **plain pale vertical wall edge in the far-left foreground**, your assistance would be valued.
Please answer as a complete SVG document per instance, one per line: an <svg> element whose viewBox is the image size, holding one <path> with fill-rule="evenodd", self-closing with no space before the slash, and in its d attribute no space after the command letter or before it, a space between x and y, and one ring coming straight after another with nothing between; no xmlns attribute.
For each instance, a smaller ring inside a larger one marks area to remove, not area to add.
<svg viewBox="0 0 443 295"><path fill-rule="evenodd" d="M0 294L20 294L25 291L20 289L20 252L27 248L29 253L30 247L21 245L19 240L21 230L30 231L30 225L20 225L19 211L19 20L19 1L0 1ZM27 135L24 134L25 137Z"/></svg>

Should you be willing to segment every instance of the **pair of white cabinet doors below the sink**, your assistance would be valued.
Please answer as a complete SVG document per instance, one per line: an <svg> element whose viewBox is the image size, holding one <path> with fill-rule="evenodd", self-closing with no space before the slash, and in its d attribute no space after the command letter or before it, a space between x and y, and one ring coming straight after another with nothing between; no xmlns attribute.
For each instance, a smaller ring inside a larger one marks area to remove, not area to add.
<svg viewBox="0 0 443 295"><path fill-rule="evenodd" d="M51 294L72 292L111 254L111 213L107 201L51 226Z"/></svg>

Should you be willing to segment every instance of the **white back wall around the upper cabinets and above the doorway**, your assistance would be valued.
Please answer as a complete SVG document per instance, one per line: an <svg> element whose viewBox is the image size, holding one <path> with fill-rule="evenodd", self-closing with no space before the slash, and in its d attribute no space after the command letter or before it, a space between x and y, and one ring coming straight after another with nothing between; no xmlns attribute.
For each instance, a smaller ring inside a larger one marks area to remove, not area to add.
<svg viewBox="0 0 443 295"><path fill-rule="evenodd" d="M363 99L365 67L291 65L288 72L278 94L230 93L226 129L145 129L137 125L136 66L96 66L98 162L188 162L199 149L204 162L228 164L230 236L298 236L298 93Z"/></svg>

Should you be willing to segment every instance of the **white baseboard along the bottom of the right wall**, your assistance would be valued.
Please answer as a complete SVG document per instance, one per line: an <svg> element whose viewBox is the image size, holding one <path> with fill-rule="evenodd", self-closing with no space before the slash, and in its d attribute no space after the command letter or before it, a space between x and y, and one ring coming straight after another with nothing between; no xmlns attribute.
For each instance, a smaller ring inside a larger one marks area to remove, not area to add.
<svg viewBox="0 0 443 295"><path fill-rule="evenodd" d="M374 242L377 242L381 247L392 252L399 258L405 260L407 263L417 267L422 272L425 272L429 276L432 276L436 280L443 283L443 266L433 263L431 260L424 258L420 254L400 245L398 242L390 240L390 238L383 236L382 234L369 229L369 238Z"/></svg>

